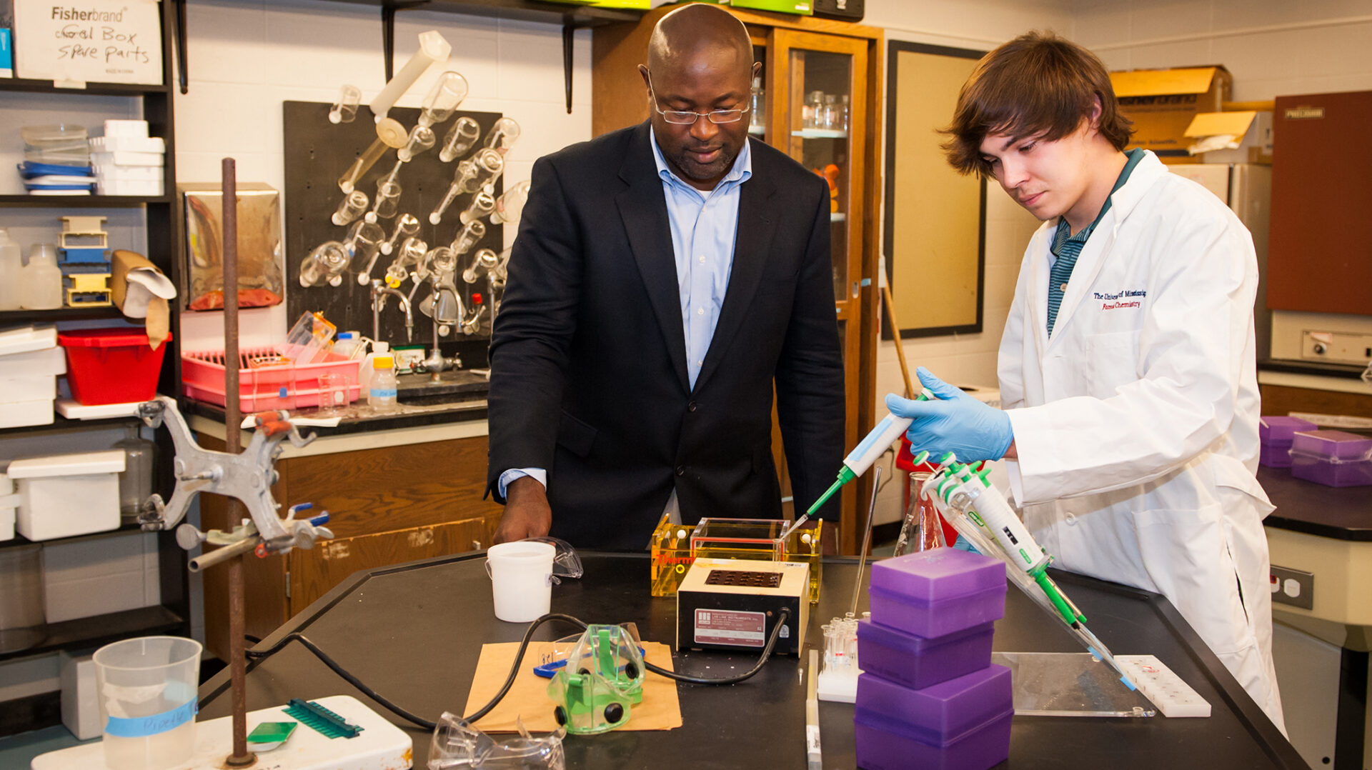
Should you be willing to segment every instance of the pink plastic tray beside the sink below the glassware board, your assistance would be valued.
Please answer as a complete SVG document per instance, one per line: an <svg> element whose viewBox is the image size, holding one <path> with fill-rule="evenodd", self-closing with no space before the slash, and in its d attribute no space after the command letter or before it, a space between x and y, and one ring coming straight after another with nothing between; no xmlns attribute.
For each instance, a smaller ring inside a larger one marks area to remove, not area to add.
<svg viewBox="0 0 1372 770"><path fill-rule="evenodd" d="M239 351L239 408L243 412L266 409L298 409L320 405L320 375L348 377L348 402L361 394L358 371L361 360L348 360L328 353L317 364L287 364L284 366L250 366L252 358L280 353L273 347L252 347ZM181 354L181 384L188 398L225 406L224 351L209 350Z"/></svg>

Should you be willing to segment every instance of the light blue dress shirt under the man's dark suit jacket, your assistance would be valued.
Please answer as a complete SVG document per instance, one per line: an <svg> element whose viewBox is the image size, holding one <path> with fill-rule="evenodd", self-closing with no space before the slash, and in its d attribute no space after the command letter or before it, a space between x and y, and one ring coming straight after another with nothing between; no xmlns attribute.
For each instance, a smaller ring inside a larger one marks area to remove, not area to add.
<svg viewBox="0 0 1372 770"><path fill-rule="evenodd" d="M711 191L696 189L672 173L657 147L656 132L653 162L667 199L672 254L676 257L676 288L682 302L682 329L686 332L686 375L694 388L729 290L729 275L734 268L734 236L738 232L738 188L753 176L753 154L745 140L734 158L734 166ZM545 468L510 468L501 474L501 497L505 495L505 487L520 476L534 476L547 486Z"/></svg>

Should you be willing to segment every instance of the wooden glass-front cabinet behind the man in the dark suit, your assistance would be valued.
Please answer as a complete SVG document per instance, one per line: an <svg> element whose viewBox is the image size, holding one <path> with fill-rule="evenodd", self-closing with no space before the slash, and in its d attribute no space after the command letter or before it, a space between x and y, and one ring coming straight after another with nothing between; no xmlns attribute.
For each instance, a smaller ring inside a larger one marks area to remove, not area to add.
<svg viewBox="0 0 1372 770"><path fill-rule="evenodd" d="M646 91L637 67L646 60L653 25L671 10L657 8L637 23L594 29L595 136L648 119ZM829 185L834 313L844 349L845 445L851 449L875 421L881 30L809 16L730 12L748 26L753 59L763 63L752 84L749 133ZM772 434L782 490L789 495L781 434L775 427ZM860 545L858 524L866 523L868 485L864 478L844 490L844 553Z"/></svg>

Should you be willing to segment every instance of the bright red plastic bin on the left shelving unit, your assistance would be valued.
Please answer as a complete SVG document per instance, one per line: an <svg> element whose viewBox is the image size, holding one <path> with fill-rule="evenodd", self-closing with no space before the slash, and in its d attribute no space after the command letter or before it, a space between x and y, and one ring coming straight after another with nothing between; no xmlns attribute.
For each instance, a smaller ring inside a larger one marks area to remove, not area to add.
<svg viewBox="0 0 1372 770"><path fill-rule="evenodd" d="M128 404L150 401L158 394L158 372L167 346L163 342L156 350L148 347L144 329L70 329L58 334L58 343L66 349L67 384L78 404Z"/></svg>

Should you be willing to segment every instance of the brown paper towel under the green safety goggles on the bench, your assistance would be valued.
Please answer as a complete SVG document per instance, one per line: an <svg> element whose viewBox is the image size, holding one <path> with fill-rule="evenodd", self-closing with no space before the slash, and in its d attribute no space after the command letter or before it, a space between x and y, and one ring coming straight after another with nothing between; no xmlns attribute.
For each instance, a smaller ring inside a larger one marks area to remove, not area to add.
<svg viewBox="0 0 1372 770"><path fill-rule="evenodd" d="M672 651L661 642L642 642L643 657L654 666L672 671ZM462 714L471 714L490 703L499 692L505 678L510 675L510 663L519 642L484 644L482 656L476 662L476 677L472 679L472 690L466 696L466 708ZM531 733L547 733L557 729L557 719L553 718L553 708L557 701L547 695L547 685L553 679L545 679L534 674L534 666L543 659L543 655L553 652L553 642L530 642L524 660L520 662L519 674L510 692L505 699L476 722L476 727L487 733L514 733L514 718L524 722L524 727ZM676 682L649 671L643 677L643 701L634 704L630 710L628 722L620 730L671 730L682 726L682 707L676 699Z"/></svg>

